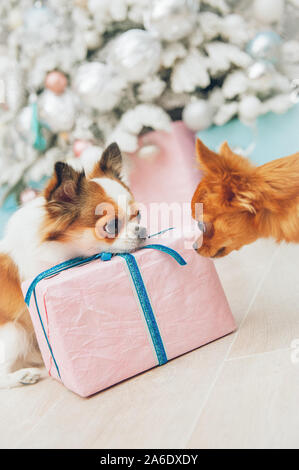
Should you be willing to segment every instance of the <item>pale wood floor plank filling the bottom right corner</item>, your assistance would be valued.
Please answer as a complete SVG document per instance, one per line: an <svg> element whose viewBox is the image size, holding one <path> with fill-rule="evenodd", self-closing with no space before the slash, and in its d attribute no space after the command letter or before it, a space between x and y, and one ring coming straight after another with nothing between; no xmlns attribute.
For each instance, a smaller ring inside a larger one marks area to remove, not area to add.
<svg viewBox="0 0 299 470"><path fill-rule="evenodd" d="M298 448L299 364L274 351L226 361L190 448Z"/></svg>

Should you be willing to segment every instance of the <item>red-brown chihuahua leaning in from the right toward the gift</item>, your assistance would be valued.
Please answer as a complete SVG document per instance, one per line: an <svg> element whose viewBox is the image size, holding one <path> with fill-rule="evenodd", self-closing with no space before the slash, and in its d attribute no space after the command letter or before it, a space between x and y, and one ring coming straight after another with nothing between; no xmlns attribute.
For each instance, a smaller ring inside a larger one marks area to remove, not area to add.
<svg viewBox="0 0 299 470"><path fill-rule="evenodd" d="M198 253L225 256L262 237L299 243L299 152L256 167L227 142L218 154L197 139L196 154L203 170L191 203L202 231Z"/></svg>

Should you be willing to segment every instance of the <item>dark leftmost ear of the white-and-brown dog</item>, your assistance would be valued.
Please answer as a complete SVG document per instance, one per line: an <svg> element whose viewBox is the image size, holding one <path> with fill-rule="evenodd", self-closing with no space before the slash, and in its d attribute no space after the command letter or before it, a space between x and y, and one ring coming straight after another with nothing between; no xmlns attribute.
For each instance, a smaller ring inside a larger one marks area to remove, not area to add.
<svg viewBox="0 0 299 470"><path fill-rule="evenodd" d="M57 162L54 174L44 191L47 202L57 204L75 204L83 191L85 182L84 172L74 170L64 162Z"/></svg>

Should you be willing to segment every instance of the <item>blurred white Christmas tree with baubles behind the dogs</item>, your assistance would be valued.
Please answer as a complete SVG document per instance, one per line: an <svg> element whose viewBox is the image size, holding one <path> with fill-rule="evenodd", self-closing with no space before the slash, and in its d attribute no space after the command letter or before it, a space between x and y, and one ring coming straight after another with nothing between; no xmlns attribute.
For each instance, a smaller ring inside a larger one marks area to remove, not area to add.
<svg viewBox="0 0 299 470"><path fill-rule="evenodd" d="M138 149L172 119L252 123L294 102L298 0L0 3L0 185L20 192L56 160Z"/></svg>

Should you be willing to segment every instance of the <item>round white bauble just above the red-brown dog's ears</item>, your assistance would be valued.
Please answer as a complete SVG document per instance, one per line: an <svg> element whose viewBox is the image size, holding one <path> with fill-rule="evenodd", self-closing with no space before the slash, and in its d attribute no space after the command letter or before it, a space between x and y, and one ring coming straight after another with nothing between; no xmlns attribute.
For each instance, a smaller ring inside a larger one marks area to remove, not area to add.
<svg viewBox="0 0 299 470"><path fill-rule="evenodd" d="M183 110L183 121L192 131L201 131L212 124L213 111L205 100L187 104Z"/></svg>

